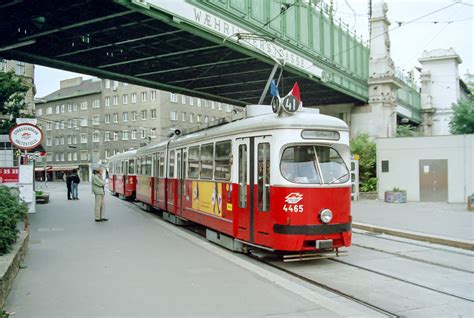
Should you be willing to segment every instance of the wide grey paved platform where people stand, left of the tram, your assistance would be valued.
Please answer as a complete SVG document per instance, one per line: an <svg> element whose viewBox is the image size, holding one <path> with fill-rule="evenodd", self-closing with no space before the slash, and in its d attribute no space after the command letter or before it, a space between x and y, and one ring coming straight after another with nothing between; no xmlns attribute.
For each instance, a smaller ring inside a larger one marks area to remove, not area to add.
<svg viewBox="0 0 474 318"><path fill-rule="evenodd" d="M27 267L7 299L14 317L374 315L110 195L110 220L96 223L86 183L79 201L66 199L62 183L47 191L50 203L30 215Z"/></svg>

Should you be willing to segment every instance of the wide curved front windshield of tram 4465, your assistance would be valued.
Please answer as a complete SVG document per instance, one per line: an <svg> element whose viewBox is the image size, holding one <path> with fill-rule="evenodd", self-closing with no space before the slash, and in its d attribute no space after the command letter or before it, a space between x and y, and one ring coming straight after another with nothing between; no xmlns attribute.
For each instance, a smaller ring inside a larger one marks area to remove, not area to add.
<svg viewBox="0 0 474 318"><path fill-rule="evenodd" d="M301 145L285 148L282 176L294 183L345 183L349 170L339 153L330 147Z"/></svg>

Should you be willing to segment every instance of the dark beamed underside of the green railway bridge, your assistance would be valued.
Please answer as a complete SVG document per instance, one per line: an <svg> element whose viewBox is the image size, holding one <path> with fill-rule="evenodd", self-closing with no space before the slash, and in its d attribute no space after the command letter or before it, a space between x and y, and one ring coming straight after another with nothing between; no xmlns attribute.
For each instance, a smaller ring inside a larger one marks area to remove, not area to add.
<svg viewBox="0 0 474 318"><path fill-rule="evenodd" d="M0 57L237 105L257 103L274 61L113 1L24 0L0 10ZM305 105L361 103L285 69ZM283 89L282 89L283 88ZM270 96L265 98L270 103Z"/></svg>

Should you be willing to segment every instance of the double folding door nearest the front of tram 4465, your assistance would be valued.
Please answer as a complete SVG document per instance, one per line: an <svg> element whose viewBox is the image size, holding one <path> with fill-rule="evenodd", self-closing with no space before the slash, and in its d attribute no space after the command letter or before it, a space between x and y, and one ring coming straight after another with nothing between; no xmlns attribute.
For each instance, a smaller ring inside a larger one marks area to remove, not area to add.
<svg viewBox="0 0 474 318"><path fill-rule="evenodd" d="M237 237L270 245L270 144L271 136L236 140L238 164Z"/></svg>

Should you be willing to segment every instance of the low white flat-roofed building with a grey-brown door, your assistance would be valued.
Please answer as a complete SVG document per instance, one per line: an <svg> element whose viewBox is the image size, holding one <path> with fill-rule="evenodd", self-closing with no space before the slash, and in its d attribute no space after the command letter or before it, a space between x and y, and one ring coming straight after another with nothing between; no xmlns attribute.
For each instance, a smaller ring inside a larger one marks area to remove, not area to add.
<svg viewBox="0 0 474 318"><path fill-rule="evenodd" d="M378 138L378 197L399 188L408 201L466 202L474 194L474 135Z"/></svg>

